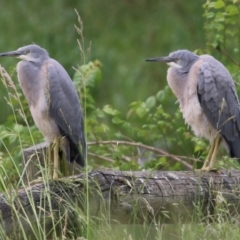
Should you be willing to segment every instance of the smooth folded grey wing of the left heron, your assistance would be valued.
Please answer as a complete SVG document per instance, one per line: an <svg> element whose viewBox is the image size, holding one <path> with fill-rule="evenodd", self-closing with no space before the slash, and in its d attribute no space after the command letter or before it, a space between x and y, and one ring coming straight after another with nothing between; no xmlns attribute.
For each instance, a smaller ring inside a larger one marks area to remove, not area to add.
<svg viewBox="0 0 240 240"><path fill-rule="evenodd" d="M86 142L84 120L77 91L65 69L54 59L47 60L50 96L50 116L59 127L60 133L70 141L75 153L79 143L82 148L80 165L84 165ZM78 159L76 159L77 161Z"/></svg>

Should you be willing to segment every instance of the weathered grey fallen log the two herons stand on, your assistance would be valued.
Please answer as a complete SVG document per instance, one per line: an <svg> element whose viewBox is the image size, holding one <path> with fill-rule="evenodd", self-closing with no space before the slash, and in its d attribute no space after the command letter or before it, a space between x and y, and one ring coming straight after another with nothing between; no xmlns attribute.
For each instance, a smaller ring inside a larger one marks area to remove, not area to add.
<svg viewBox="0 0 240 240"><path fill-rule="evenodd" d="M192 222L196 212L201 211L203 216L214 214L219 205L228 207L232 215L239 214L239 189L240 171L235 170L202 175L199 172L92 171L87 176L82 173L2 194L1 227L7 235L14 235L21 231L21 220L24 231L31 232L30 226L42 224L45 216L46 227L51 229L66 211L71 212L69 219L75 219L70 217L77 214L69 208L71 201L83 213L88 201L91 217L102 217L105 213L115 223L173 223L179 219L182 223ZM25 219L30 219L31 225Z"/></svg>

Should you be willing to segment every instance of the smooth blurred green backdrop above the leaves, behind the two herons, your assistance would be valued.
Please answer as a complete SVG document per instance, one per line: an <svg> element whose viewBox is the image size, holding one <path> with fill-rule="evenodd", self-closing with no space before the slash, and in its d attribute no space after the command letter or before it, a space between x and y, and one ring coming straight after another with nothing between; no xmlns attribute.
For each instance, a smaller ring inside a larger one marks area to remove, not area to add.
<svg viewBox="0 0 240 240"><path fill-rule="evenodd" d="M149 64L148 57L167 55L177 49L195 50L205 46L204 1L180 0L18 0L1 1L0 52L23 45L38 44L47 49L73 76L81 65L78 49L76 9L84 24L84 40L91 51L86 61L99 59L103 80L94 90L96 104L111 104L126 112L132 101L144 101L166 85L165 65ZM16 74L16 59L0 59ZM11 113L0 86L0 123ZM173 104L173 111L177 109Z"/></svg>

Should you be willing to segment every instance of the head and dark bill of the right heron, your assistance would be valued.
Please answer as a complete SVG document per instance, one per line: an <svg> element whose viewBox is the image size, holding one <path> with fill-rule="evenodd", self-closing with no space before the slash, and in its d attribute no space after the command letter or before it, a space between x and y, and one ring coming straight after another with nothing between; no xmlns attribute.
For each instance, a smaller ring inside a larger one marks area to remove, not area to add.
<svg viewBox="0 0 240 240"><path fill-rule="evenodd" d="M192 64L198 60L199 56L188 50L178 50L172 52L167 57L148 58L149 62L165 62L169 66L188 71Z"/></svg>

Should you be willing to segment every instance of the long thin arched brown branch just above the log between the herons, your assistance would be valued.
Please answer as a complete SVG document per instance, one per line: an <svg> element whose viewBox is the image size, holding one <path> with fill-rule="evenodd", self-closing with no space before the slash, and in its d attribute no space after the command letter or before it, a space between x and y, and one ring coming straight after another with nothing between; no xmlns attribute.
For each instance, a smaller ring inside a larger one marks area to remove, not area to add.
<svg viewBox="0 0 240 240"><path fill-rule="evenodd" d="M181 164L183 164L187 169L189 170L192 170L193 167L184 162L180 157L178 156L175 156L175 155L172 155L162 149L158 149L158 148L155 148L155 147L151 147L151 146L148 146L148 145L145 145L145 144L142 144L142 143L136 143L136 142L128 142L128 141L117 141L117 140L110 140L110 141L96 141L96 142L89 142L88 143L88 146L93 146L93 145L110 145L110 144L113 144L113 145L127 145L127 146L132 146L132 147L141 147L141 148L145 148L149 151L152 151L152 152L155 152L155 153L158 153L158 154L161 154L161 155L164 155L166 157L170 157L171 159L177 161L177 162L180 162Z"/></svg>

